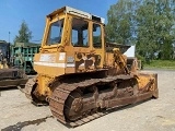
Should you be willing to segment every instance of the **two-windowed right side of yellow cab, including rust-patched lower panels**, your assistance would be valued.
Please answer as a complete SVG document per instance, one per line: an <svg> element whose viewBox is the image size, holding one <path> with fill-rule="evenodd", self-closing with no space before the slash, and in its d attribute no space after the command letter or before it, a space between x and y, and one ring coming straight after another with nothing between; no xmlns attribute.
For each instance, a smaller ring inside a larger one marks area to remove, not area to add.
<svg viewBox="0 0 175 131"><path fill-rule="evenodd" d="M67 69L91 72L103 68L104 41L101 25L93 25L91 20L72 16L70 31L71 46L67 51Z"/></svg>

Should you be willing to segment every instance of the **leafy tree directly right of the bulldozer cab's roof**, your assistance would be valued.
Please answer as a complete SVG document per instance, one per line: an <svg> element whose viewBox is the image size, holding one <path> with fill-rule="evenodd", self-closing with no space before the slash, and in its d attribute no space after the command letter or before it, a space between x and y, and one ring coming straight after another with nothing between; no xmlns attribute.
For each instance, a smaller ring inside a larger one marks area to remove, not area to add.
<svg viewBox="0 0 175 131"><path fill-rule="evenodd" d="M126 44L130 37L130 21L127 10L127 0L120 0L110 7L107 12L106 25L107 39L119 44Z"/></svg>

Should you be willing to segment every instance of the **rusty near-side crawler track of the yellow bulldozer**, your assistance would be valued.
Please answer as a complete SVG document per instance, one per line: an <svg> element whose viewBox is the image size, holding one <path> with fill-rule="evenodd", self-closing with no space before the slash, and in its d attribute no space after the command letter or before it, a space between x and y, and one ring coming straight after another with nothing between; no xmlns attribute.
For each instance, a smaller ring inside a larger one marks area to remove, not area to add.
<svg viewBox="0 0 175 131"><path fill-rule="evenodd" d="M108 114L106 111L108 109L137 103L152 96L152 92L136 94L138 88L131 79L133 78L130 75L117 75L72 84L62 83L56 87L49 99L50 110L62 123L78 127ZM125 81L130 81L130 83ZM121 83L118 90L115 86L109 91L101 90L102 85L118 83ZM125 83L129 83L129 85Z"/></svg>

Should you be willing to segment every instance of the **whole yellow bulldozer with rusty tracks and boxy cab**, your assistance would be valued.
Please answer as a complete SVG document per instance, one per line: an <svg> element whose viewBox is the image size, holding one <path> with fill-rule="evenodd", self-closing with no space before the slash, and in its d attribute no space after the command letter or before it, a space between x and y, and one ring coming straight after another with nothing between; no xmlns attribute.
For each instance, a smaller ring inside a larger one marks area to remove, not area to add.
<svg viewBox="0 0 175 131"><path fill-rule="evenodd" d="M130 71L120 49L107 45L104 19L70 7L46 16L34 70L26 97L37 106L48 104L52 116L71 127L159 97L158 74Z"/></svg>

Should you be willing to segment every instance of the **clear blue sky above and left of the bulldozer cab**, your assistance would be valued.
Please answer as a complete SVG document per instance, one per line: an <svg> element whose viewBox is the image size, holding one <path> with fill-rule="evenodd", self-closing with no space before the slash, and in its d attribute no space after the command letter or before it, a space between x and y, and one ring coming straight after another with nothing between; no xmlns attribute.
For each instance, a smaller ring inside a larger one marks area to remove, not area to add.
<svg viewBox="0 0 175 131"><path fill-rule="evenodd" d="M117 0L0 0L0 39L13 43L25 21L32 31L32 43L40 43L46 15L65 5L107 19L107 11Z"/></svg>

